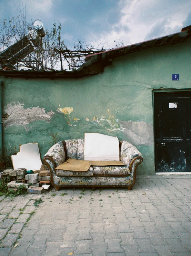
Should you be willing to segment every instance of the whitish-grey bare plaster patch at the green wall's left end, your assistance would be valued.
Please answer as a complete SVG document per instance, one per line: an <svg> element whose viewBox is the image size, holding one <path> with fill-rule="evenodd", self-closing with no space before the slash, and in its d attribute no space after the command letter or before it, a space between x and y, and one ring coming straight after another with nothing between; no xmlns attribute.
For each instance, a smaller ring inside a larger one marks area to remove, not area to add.
<svg viewBox="0 0 191 256"><path fill-rule="evenodd" d="M3 122L4 127L17 125L24 126L26 130L31 128L27 127L27 124L34 121L45 121L50 122L50 119L55 114L52 110L47 112L44 108L32 107L24 108L24 104L12 102L4 107L4 111L9 115L9 117Z"/></svg>

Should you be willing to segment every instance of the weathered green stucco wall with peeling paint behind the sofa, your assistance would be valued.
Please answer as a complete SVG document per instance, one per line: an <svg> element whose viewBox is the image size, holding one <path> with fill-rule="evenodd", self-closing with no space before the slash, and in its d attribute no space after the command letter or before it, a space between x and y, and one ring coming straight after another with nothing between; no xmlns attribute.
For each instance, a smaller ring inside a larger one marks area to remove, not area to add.
<svg viewBox="0 0 191 256"><path fill-rule="evenodd" d="M4 149L38 142L43 157L49 133L65 140L98 132L134 144L143 155L138 173L154 174L153 90L191 88L190 44L188 39L116 58L103 73L80 79L0 77L3 114L9 115ZM172 81L176 73L180 80Z"/></svg>

